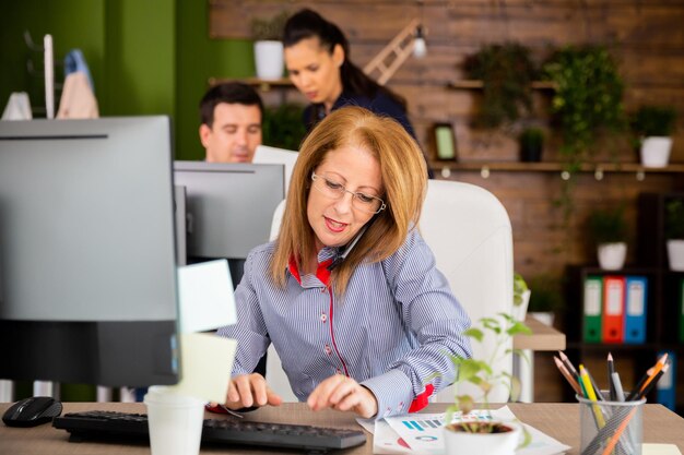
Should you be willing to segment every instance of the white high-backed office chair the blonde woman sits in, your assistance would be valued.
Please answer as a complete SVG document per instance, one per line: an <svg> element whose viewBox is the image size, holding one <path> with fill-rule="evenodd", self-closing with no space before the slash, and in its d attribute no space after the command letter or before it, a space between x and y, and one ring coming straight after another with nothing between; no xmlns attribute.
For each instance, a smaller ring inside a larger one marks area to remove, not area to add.
<svg viewBox="0 0 684 455"><path fill-rule="evenodd" d="M278 237L285 202L275 209L271 239ZM487 190L461 182L429 180L423 205L421 234L433 250L437 267L445 274L473 323L512 309L512 235L510 219L502 203ZM473 355L483 358L493 344L474 344ZM491 342L491 340L490 340ZM512 346L503 347L510 349ZM495 363L496 371L512 372L512 356ZM296 397L290 388L275 349L269 348L267 376L270 386L287 400ZM480 394L465 385L461 392ZM437 402L452 402L448 387ZM505 387L490 395L493 403L508 400Z"/></svg>

